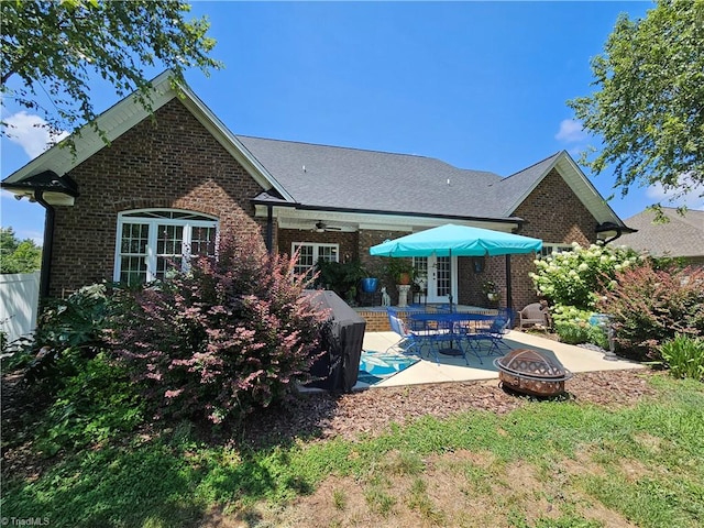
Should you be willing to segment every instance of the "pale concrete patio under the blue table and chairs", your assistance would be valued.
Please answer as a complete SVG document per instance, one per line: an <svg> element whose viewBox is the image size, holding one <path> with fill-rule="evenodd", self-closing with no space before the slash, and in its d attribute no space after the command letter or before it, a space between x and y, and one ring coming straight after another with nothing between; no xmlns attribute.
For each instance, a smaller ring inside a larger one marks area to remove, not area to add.
<svg viewBox="0 0 704 528"><path fill-rule="evenodd" d="M366 351L384 352L398 341L398 334L394 332L367 332L364 334L363 348ZM606 360L604 353L564 344L536 334L509 331L504 342L512 349L534 349L552 351L562 365L573 373L595 371L617 371L624 369L644 369L639 363L617 359ZM466 382L477 380L498 378L498 372L493 364L493 356L482 356L482 361L473 354L468 354L468 365L462 356L448 356L439 354L439 363L432 354L424 354L421 360L406 370L384 380L375 385L366 385L358 382L355 389L392 387L399 385L418 385L424 383ZM568 382L569 383L569 382Z"/></svg>

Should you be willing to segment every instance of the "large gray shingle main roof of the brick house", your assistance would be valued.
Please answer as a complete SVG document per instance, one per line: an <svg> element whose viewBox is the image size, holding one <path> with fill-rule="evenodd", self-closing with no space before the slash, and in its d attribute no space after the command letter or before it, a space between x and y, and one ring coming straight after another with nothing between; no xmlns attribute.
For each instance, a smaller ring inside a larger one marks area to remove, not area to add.
<svg viewBox="0 0 704 528"><path fill-rule="evenodd" d="M505 218L548 163L502 179L424 156L237 138L297 202L320 208Z"/></svg>

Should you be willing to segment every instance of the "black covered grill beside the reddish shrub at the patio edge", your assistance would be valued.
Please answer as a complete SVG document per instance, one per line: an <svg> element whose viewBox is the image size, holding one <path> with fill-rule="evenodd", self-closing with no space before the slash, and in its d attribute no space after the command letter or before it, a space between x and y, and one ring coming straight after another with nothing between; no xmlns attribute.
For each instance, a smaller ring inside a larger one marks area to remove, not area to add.
<svg viewBox="0 0 704 528"><path fill-rule="evenodd" d="M349 392L360 373L366 321L334 292L310 290L306 295L314 306L330 310L318 346L322 355L310 367L310 373L320 380L307 386Z"/></svg>

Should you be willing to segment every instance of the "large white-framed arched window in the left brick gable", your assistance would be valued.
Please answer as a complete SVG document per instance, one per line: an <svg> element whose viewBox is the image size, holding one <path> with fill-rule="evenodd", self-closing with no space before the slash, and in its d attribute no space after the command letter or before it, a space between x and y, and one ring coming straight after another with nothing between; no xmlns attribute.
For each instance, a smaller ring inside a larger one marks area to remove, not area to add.
<svg viewBox="0 0 704 528"><path fill-rule="evenodd" d="M163 278L185 270L193 255L213 255L218 221L205 215L169 209L127 211L118 216L116 282L128 285Z"/></svg>

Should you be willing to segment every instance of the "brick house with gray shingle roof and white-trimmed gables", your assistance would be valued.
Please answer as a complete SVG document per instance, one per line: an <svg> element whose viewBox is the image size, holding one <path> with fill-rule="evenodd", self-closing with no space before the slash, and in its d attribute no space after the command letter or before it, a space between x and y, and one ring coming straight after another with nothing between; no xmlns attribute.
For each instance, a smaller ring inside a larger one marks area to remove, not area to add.
<svg viewBox="0 0 704 528"><path fill-rule="evenodd" d="M54 146L2 182L46 208L44 295L158 277L186 251L210 251L218 231L300 249L301 270L318 258L371 265L370 246L449 222L539 238L543 251L629 231L564 151L501 177L416 155L239 136L187 86L179 97L167 73L153 85L153 118L128 97L98 118L109 145L86 127L75 156ZM534 258L417 264L438 271L430 302L452 294L484 305L485 279L506 299L509 270L520 308L536 299Z"/></svg>

